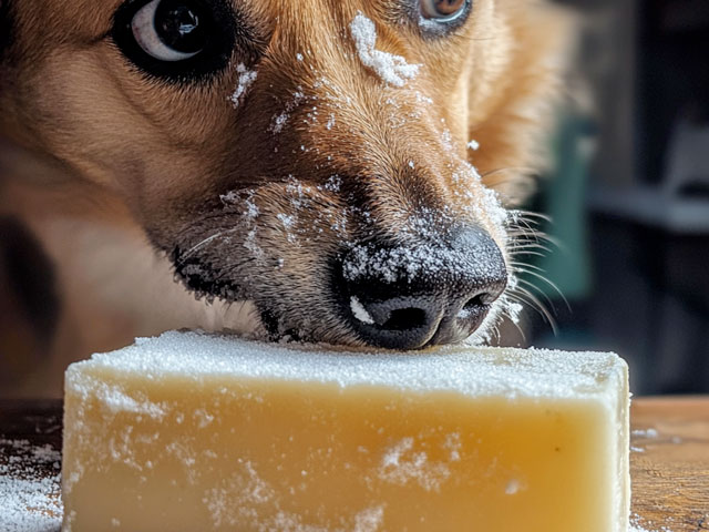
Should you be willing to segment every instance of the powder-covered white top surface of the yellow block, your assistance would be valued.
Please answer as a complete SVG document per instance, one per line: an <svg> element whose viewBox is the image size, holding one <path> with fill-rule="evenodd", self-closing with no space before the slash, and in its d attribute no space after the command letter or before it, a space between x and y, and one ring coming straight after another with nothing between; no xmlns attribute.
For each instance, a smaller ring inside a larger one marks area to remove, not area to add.
<svg viewBox="0 0 709 532"><path fill-rule="evenodd" d="M337 349L337 350L332 350ZM165 332L70 367L137 374L147 379L247 379L448 390L470 396L586 397L615 390L626 378L623 359L608 352L563 352L452 346L424 351L351 352L331 346L274 345L201 332ZM79 391L79 390L76 390Z"/></svg>

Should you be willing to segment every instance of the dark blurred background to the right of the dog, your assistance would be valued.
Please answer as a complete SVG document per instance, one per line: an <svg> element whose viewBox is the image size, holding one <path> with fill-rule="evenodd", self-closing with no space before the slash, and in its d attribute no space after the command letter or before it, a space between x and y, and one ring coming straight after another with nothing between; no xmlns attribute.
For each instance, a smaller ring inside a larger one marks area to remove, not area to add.
<svg viewBox="0 0 709 532"><path fill-rule="evenodd" d="M527 280L556 332L528 315L522 341L615 350L636 393L709 392L709 1L557 3L582 14L572 102L526 206L553 219L530 258L556 288Z"/></svg>

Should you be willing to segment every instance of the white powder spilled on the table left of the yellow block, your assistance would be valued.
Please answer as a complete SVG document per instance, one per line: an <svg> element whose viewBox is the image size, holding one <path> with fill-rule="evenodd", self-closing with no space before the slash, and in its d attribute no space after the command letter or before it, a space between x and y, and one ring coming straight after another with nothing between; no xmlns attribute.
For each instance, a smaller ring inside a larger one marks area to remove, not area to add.
<svg viewBox="0 0 709 532"><path fill-rule="evenodd" d="M0 530L54 532L61 526L59 451L0 440ZM51 472L48 474L48 470Z"/></svg>

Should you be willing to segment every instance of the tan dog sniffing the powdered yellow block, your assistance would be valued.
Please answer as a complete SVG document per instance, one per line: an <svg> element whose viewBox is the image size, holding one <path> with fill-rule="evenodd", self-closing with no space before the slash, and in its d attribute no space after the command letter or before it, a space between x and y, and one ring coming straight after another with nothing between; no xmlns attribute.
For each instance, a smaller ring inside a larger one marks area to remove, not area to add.
<svg viewBox="0 0 709 532"><path fill-rule="evenodd" d="M1 385L166 329L419 349L518 311L535 0L0 0ZM21 273L21 275L18 275Z"/></svg>

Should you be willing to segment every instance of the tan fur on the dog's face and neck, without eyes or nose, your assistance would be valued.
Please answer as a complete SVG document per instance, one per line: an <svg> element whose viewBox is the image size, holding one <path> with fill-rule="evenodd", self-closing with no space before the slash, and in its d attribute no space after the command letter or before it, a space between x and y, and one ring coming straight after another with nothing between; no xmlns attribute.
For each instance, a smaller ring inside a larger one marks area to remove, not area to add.
<svg viewBox="0 0 709 532"><path fill-rule="evenodd" d="M64 301L51 371L34 385L58 393L66 361L137 335L260 330L250 305L197 300L174 280L176 248L183 263L208 262L208 276L234 277L277 301L290 319L282 332L357 344L333 319L322 279L323 257L342 238L361 237L362 216L405 238L418 213L445 207L506 246L483 204L471 215L481 185L453 176L470 158L513 204L538 167L561 42L545 4L477 0L456 34L436 40L394 23L388 2L239 2L266 49L234 109L236 64L248 58L235 52L208 83L150 79L106 38L119 3L16 0L10 8L0 134L12 147L0 150L0 213L21 216L39 235ZM404 88L382 83L357 58L348 27L358 11L376 21L378 49L423 65ZM284 111L288 122L274 133ZM480 151L465 147L471 139ZM341 188L333 192L335 174ZM219 289L224 299L243 298Z"/></svg>

